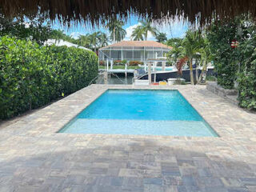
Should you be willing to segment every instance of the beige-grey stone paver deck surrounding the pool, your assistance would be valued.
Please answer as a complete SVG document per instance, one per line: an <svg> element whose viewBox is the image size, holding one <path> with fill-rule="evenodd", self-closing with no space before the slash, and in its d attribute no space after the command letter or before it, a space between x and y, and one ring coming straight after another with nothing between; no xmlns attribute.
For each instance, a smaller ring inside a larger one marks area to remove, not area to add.
<svg viewBox="0 0 256 192"><path fill-rule="evenodd" d="M56 133L108 88L178 89L220 137ZM0 126L0 191L256 191L256 114L206 86L92 85Z"/></svg>

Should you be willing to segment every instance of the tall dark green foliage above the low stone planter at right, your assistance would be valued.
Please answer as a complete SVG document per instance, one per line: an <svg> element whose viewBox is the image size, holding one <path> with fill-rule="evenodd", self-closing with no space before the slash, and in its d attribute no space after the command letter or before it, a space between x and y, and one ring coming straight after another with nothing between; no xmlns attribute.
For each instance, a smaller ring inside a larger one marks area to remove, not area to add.
<svg viewBox="0 0 256 192"><path fill-rule="evenodd" d="M238 88L240 106L256 110L256 26L246 16L225 25L214 22L208 31L218 84ZM232 48L231 42L238 41ZM238 86L235 86L238 84Z"/></svg>

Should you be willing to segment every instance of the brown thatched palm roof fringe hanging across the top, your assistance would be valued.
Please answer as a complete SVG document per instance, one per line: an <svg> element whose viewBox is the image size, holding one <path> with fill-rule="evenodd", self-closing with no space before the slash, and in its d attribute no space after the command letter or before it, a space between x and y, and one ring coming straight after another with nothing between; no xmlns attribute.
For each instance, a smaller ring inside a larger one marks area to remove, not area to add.
<svg viewBox="0 0 256 192"><path fill-rule="evenodd" d="M192 23L210 23L212 17L234 18L250 13L256 18L254 0L0 0L0 13L14 17L18 14L41 12L62 22L83 20L98 24L118 14L126 19L129 14L142 18L173 18L184 15Z"/></svg>

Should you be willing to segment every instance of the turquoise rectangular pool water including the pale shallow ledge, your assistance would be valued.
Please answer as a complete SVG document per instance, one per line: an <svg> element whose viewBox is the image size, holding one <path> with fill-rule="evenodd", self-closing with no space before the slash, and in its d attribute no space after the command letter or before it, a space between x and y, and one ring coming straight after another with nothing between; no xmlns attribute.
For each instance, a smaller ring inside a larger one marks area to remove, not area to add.
<svg viewBox="0 0 256 192"><path fill-rule="evenodd" d="M218 137L178 90L107 90L59 132Z"/></svg>

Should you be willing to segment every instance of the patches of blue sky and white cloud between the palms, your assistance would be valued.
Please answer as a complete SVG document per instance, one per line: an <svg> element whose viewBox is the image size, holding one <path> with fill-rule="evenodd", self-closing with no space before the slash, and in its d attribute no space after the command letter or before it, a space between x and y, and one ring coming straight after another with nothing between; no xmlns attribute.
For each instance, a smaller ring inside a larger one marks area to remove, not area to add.
<svg viewBox="0 0 256 192"><path fill-rule="evenodd" d="M130 40L130 36L132 31L136 26L141 25L140 19L137 16L131 16L130 19L126 22L123 28L126 30L126 38L124 40ZM154 23L159 30L159 32L166 33L167 38L182 38L186 34L186 30L188 30L188 24L184 22L184 20L180 21L178 18L174 19L174 21L167 23ZM71 25L69 28L65 26L61 26L58 22L55 22L52 27L54 29L64 30L65 34L72 36L73 38L78 38L81 34L90 34L95 31L102 31L106 34L109 34L109 31L104 27L100 26L97 28L92 28L91 26L86 26L84 23L78 23L77 25ZM156 40L151 33L148 33L148 40Z"/></svg>

